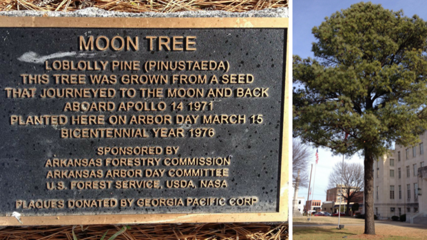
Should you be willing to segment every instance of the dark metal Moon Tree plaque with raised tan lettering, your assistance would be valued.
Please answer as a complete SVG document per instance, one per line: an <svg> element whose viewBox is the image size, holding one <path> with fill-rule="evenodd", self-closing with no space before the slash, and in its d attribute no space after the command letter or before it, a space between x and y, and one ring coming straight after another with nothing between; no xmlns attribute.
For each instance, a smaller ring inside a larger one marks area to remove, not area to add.
<svg viewBox="0 0 427 240"><path fill-rule="evenodd" d="M287 220L287 28L6 20L1 225Z"/></svg>

